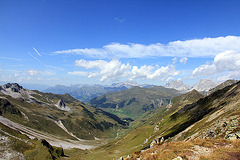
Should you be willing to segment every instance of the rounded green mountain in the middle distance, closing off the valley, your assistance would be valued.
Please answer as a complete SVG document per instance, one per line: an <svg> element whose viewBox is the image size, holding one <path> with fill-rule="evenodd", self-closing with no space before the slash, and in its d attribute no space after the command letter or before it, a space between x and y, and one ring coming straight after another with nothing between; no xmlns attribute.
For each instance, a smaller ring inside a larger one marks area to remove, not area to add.
<svg viewBox="0 0 240 160"><path fill-rule="evenodd" d="M136 119L148 111L169 104L170 99L179 94L175 89L162 86L132 87L128 90L106 93L93 98L89 103L96 108L101 108L120 117Z"/></svg>

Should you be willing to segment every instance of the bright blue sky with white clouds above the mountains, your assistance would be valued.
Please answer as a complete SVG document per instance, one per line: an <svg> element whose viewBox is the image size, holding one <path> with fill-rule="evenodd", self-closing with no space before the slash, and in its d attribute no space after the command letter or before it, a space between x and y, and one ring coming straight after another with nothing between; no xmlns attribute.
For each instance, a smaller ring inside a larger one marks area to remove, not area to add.
<svg viewBox="0 0 240 160"><path fill-rule="evenodd" d="M240 79L239 0L0 0L0 81Z"/></svg>

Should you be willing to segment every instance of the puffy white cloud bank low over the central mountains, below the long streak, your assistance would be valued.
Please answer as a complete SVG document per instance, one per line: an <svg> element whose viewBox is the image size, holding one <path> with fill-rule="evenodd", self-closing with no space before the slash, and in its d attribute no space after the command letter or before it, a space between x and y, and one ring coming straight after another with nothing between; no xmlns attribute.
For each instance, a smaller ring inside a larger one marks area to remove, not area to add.
<svg viewBox="0 0 240 160"><path fill-rule="evenodd" d="M118 80L121 78L127 78L129 80L134 79L157 79L166 80L169 76L176 76L179 71L175 70L173 65L166 67L153 67L150 65L144 65L141 67L131 66L129 63L121 63L117 59L113 59L109 62L104 60L86 61L84 59L76 60L75 65L86 69L97 69L94 72L74 71L68 72L70 75L87 76L88 78L97 77L100 81L105 80Z"/></svg>

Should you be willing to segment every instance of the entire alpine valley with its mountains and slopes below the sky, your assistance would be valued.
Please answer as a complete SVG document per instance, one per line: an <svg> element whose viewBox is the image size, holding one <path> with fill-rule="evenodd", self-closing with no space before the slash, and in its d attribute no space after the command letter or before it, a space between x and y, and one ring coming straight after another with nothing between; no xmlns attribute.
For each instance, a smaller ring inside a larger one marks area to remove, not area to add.
<svg viewBox="0 0 240 160"><path fill-rule="evenodd" d="M240 81L44 92L7 83L0 86L0 136L2 159L237 159Z"/></svg>

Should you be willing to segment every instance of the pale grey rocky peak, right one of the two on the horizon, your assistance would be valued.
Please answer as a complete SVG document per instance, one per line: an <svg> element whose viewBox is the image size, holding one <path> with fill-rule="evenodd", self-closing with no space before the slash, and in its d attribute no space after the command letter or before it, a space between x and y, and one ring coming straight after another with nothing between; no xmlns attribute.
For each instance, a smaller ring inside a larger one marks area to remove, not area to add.
<svg viewBox="0 0 240 160"><path fill-rule="evenodd" d="M217 82L213 82L210 79L201 79L198 83L196 83L191 89L196 89L197 91L205 91L207 92L209 89L216 87L219 85Z"/></svg>

